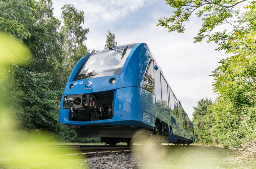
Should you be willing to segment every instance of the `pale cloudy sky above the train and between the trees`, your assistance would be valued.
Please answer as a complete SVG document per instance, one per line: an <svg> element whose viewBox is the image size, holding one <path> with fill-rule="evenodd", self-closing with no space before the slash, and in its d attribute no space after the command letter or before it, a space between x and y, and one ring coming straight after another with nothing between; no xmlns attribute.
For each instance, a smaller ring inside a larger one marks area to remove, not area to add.
<svg viewBox="0 0 256 169"><path fill-rule="evenodd" d="M173 13L165 3L164 0L53 0L53 7L58 19L64 4L73 4L84 11L82 26L89 28L85 44L90 50L104 49L107 30L115 34L117 45L146 43L192 119L193 106L196 107L200 99L216 99L212 90L214 78L209 75L228 55L215 51L218 47L215 43L193 43L202 25L196 15L185 22L183 34L168 33L168 29L156 26L158 19Z"/></svg>

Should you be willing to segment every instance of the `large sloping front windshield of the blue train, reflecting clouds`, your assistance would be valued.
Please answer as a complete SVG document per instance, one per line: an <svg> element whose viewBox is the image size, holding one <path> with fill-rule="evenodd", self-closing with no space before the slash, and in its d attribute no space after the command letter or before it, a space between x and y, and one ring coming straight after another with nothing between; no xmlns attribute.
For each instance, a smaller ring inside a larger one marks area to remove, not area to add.
<svg viewBox="0 0 256 169"><path fill-rule="evenodd" d="M102 76L120 75L123 69L123 65L135 45L116 46L118 48L105 49L94 53L85 60L80 69L78 70L75 80L96 78ZM122 49L126 49L125 55L123 55Z"/></svg>

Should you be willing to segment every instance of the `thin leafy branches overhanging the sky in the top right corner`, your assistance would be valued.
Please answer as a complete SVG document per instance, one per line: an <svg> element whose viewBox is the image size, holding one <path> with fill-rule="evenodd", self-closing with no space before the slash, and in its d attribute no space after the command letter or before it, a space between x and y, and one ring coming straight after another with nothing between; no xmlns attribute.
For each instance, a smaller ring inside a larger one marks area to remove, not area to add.
<svg viewBox="0 0 256 169"><path fill-rule="evenodd" d="M255 28L254 1L166 0L166 2L167 5L176 10L169 18L160 19L157 26L167 28L168 32L176 30L178 33L183 33L185 21L189 21L191 15L195 13L198 18L202 18L203 24L197 37L194 38L194 42L201 42L207 37L207 42L221 42L218 50L230 49L232 40L238 40L238 35L241 36L241 34L248 33ZM245 2L249 3L245 4ZM244 4L245 12L241 11L241 3ZM231 21L232 19L235 20ZM217 26L223 24L232 25L233 30L231 32L223 30L212 33Z"/></svg>

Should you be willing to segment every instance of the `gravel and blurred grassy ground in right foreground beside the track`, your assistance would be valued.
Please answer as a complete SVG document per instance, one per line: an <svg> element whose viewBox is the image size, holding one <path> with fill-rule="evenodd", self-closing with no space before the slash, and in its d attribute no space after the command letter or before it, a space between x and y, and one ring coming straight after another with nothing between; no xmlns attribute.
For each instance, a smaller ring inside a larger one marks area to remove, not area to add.
<svg viewBox="0 0 256 169"><path fill-rule="evenodd" d="M88 167L96 168L188 168L188 169L251 169L256 168L256 158L243 152L216 146L169 146L165 149L151 149L89 157Z"/></svg>

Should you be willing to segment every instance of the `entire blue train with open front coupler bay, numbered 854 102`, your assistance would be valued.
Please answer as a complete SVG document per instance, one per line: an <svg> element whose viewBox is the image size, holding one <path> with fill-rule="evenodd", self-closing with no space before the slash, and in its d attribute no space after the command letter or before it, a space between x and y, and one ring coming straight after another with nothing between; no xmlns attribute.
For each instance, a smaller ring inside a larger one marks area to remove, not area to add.
<svg viewBox="0 0 256 169"><path fill-rule="evenodd" d="M65 86L59 123L112 146L195 140L193 123L145 43L81 58Z"/></svg>

